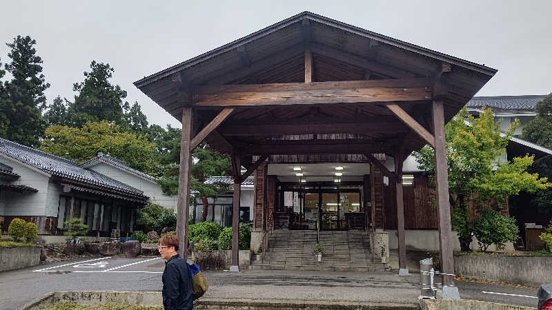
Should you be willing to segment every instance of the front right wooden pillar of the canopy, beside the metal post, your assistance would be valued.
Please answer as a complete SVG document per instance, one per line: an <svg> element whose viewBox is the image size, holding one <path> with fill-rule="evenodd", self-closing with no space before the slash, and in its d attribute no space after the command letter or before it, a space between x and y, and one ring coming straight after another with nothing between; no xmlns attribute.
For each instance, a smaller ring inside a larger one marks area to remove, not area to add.
<svg viewBox="0 0 552 310"><path fill-rule="evenodd" d="M451 205L449 203L449 172L446 163L443 101L433 101L433 134L435 135L435 188L439 214L439 241L442 272L454 273L451 242ZM452 276L443 276L443 285L453 285Z"/></svg>

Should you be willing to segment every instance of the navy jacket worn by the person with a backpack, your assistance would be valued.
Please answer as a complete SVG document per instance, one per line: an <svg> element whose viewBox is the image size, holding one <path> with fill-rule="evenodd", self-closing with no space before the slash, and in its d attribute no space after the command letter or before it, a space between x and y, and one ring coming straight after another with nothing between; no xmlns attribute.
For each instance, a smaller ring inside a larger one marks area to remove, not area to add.
<svg viewBox="0 0 552 310"><path fill-rule="evenodd" d="M178 254L165 262L163 307L166 310L193 309L192 275L188 263Z"/></svg>

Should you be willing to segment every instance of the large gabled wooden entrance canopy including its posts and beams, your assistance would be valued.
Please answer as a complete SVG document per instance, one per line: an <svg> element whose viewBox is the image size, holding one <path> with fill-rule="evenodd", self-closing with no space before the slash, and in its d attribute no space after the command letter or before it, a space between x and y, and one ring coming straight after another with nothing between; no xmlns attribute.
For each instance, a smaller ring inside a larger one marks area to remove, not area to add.
<svg viewBox="0 0 552 310"><path fill-rule="evenodd" d="M232 158L233 270L238 266L239 184L268 156L356 154L401 180L404 158L431 145L442 268L452 274L444 124L495 73L303 12L136 81L136 87L182 123L177 210L181 255L186 255L191 152L202 141ZM373 154L398 158L395 172L382 167ZM395 184L400 268L406 269L402 183ZM445 285L451 283L451 277L444 278Z"/></svg>

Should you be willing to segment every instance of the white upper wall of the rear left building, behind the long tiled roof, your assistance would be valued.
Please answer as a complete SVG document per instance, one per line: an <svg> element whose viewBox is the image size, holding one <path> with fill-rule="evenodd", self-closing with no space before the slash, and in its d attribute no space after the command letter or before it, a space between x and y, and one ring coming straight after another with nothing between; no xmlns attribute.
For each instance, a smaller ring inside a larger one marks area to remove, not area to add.
<svg viewBox="0 0 552 310"><path fill-rule="evenodd" d="M159 184L154 181L135 176L134 174L130 174L129 172L112 167L105 163L98 163L89 169L109 176L110 178L118 180L121 183L140 189L146 196L150 197L151 203L156 203L157 205L162 205L164 207L172 207L175 211L177 209L177 196L166 196L163 194L163 190Z"/></svg>

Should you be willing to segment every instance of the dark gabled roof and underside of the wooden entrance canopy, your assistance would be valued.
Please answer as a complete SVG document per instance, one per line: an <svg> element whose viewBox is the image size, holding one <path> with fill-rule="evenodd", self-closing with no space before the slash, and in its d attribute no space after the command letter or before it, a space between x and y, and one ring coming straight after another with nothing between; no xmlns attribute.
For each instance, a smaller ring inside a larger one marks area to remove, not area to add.
<svg viewBox="0 0 552 310"><path fill-rule="evenodd" d="M446 95L441 97L446 121L496 73L484 65L303 12L144 77L135 85L180 120L182 107L201 100L195 90L211 85L303 83L307 46L313 54L313 82L411 79L431 85L438 79L446 86ZM397 104L430 128L431 98L426 99ZM206 125L220 110L197 105L197 127ZM213 147L229 150L228 143L221 142L223 136L240 152L263 145L255 154L291 154L293 149L319 154L322 147L315 145L324 143L337 143L335 154L389 153L397 143L408 152L425 145L377 102L237 106L218 132L206 139ZM279 147L282 141L289 145Z"/></svg>

